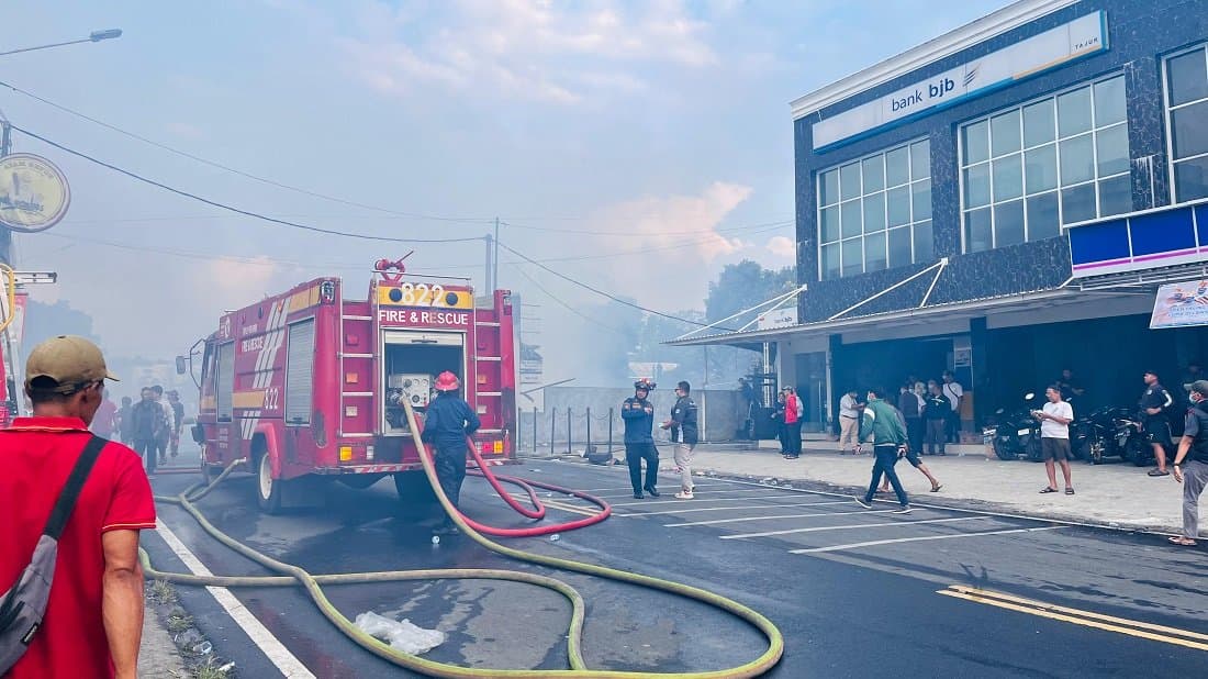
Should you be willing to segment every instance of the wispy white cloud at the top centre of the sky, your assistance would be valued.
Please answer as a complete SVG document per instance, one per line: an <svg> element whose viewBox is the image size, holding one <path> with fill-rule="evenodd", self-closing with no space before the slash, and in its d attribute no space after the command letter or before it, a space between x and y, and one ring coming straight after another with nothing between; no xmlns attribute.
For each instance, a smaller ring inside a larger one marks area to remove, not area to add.
<svg viewBox="0 0 1208 679"><path fill-rule="evenodd" d="M634 75L643 69L699 70L719 62L704 40L708 24L675 1L628 10L608 1L524 0L423 7L364 7L354 34L337 40L345 68L368 87L397 97L439 87L576 105L647 89Z"/></svg>

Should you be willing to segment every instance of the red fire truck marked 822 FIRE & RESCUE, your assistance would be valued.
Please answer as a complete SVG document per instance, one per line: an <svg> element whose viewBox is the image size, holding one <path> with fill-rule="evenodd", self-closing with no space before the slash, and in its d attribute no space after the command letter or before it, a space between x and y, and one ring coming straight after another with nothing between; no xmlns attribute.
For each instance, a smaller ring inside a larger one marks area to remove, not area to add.
<svg viewBox="0 0 1208 679"><path fill-rule="evenodd" d="M319 278L223 314L202 355L203 471L248 458L267 512L310 475L358 488L393 475L406 500L426 480L401 402L423 413L446 370L482 419L475 445L487 462L515 460L512 311L506 290L476 302L467 279L381 260L367 298Z"/></svg>

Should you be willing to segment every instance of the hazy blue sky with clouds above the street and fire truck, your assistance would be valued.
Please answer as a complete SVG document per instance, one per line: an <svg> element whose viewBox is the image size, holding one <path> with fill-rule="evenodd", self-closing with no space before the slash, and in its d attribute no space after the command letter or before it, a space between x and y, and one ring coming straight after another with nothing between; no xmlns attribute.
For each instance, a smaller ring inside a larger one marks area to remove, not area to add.
<svg viewBox="0 0 1208 679"><path fill-rule="evenodd" d="M0 110L163 182L327 228L453 238L481 236L500 216L501 239L517 250L673 312L702 307L727 262L792 262L791 99L1005 4L5 5L0 51L101 28L126 34L0 57L0 81L278 182L457 221L268 186L7 88ZM405 254L223 214L19 134L16 143L58 163L72 187L59 226L18 238L18 268L58 271L60 283L35 297L91 313L111 353L173 355L213 330L222 308L323 274L359 291L373 260ZM478 243L416 249L419 269L481 280ZM500 284L542 304L553 378L591 327L516 266L501 268ZM569 303L597 301L525 273Z"/></svg>

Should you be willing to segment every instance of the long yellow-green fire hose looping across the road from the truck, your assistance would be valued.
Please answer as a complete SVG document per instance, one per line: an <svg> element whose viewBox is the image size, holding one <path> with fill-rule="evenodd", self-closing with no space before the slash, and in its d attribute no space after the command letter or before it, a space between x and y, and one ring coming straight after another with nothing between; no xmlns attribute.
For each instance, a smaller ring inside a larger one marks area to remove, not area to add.
<svg viewBox="0 0 1208 679"><path fill-rule="evenodd" d="M767 638L768 648L757 658L741 665L738 667L728 669L718 669L709 672L684 672L684 673L652 673L652 672L620 672L609 669L588 669L582 657L582 631L583 631L583 616L585 605L583 598L575 591L574 587L556 580L553 578L546 578L544 575L535 575L516 570L504 570L504 569L431 569L431 570L394 570L394 571L381 571L381 573L345 573L336 575L312 575L303 570L302 568L279 562L271 558L251 547L234 540L230 535L219 530L213 523L210 523L204 515L193 505L196 500L202 499L207 493L209 493L215 486L222 482L236 466L240 463L245 463L245 459L237 460L227 466L222 474L214 480L209 486L202 487L201 484L194 484L187 488L185 492L176 497L161 497L157 495L156 500L162 503L169 503L181 506L187 511L202 528L209 533L211 536L217 539L223 545L231 547L236 552L260 563L261 565L280 573L279 576L201 576L181 573L163 573L156 570L151 567L150 559L145 551L140 550L140 557L143 561L143 569L151 578L157 578L167 580L169 582L175 582L180 585L199 585L199 586L216 586L216 587L263 587L263 586L295 586L301 585L306 588L310 599L314 600L319 611L329 620L332 625L339 628L348 638L355 642L361 648L368 650L373 655L390 661L400 667L425 674L429 677L451 677L451 678L466 678L466 679L482 679L484 677L515 677L524 679L546 679L552 677L583 677L583 678L599 678L599 679L633 679L637 677L667 677L675 679L733 679L744 677L759 677L760 674L767 672L777 662L779 662L780 656L784 654L784 638L780 631L777 629L776 625L772 623L767 617L759 614L757 611L720 594L701 590L698 587L691 587L689 585L683 585L679 582L672 582L669 580L663 580L660 578L651 578L649 575L639 575L635 573L627 573L623 570L617 570L615 568L608 568L603 565L596 565L590 563L582 563L570 559L563 559L557 557L550 557L545 555L536 555L532 552L524 552L521 550L513 550L511 547L505 547L488 540L482 536L478 532L474 530L463 520L460 512L449 504L448 498L445 495L441 484L436 478L436 470L432 466L432 460L428 454L424 454L424 443L419 440L419 429L416 423L416 413L411 408L411 404L403 401L403 406L407 413L407 423L411 428L411 435L414 439L416 448L420 451L419 459L424 466L424 474L428 476L429 483L432 486L441 506L449 517L457 523L458 528L466 536L478 542L483 547L495 553L515 558L517 561L523 561L528 563L535 563L539 565L546 565L551 568L558 568L562 570L573 570L577 573L585 573L588 575L598 575L600 578L606 578L610 580L616 580L620 582L629 582L633 585L639 585L643 587L650 587L654 590L661 590L663 592L670 592L673 594L680 594L698 602L703 602L712 607L719 608L727 613L745 620L756 629L763 633ZM198 491L194 494L194 491ZM467 668L458 667L455 665L448 665L443 662L435 662L425 660L419 656L408 655L393 649L390 645L379 642L378 639L366 634L360 628L358 628L350 620L348 620L344 614L342 614L330 600L327 600L326 594L323 591L321 585L350 585L350 584L366 584L366 582L393 582L401 580L441 580L441 579L477 579L477 580L509 580L513 582L527 582L530 585L536 585L539 587L547 587L553 590L567 598L570 602L570 626L567 633L567 656L569 658L570 669L482 669L482 668Z"/></svg>

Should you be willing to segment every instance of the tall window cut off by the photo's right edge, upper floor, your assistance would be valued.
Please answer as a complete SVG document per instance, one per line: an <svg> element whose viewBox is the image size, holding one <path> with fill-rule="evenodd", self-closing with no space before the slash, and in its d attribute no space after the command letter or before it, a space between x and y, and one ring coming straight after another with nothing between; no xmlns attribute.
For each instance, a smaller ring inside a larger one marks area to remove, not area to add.
<svg viewBox="0 0 1208 679"><path fill-rule="evenodd" d="M1208 46L1166 59L1174 202L1208 198Z"/></svg>

